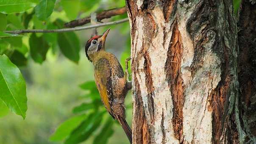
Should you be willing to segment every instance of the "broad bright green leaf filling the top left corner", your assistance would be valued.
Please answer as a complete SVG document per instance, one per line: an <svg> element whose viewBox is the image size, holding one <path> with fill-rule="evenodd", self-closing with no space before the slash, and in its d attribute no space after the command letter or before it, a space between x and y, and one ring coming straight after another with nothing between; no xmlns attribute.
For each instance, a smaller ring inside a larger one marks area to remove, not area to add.
<svg viewBox="0 0 256 144"><path fill-rule="evenodd" d="M35 7L37 2L38 0L0 0L0 13L21 13Z"/></svg>

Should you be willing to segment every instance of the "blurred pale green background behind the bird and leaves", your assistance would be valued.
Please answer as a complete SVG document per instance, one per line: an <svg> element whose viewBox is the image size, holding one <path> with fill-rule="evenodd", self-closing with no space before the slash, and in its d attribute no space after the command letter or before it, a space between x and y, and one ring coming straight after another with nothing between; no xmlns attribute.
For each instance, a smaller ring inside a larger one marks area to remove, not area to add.
<svg viewBox="0 0 256 144"><path fill-rule="evenodd" d="M101 33L105 28L99 28ZM121 26L116 26L109 33L106 40L106 50L114 53L119 59L126 49L129 33L120 33ZM80 61L78 64L64 58L61 53L53 55L48 51L46 61L40 65L28 60L28 66L21 67L21 72L27 83L28 111L26 119L8 113L0 118L0 144L58 144L49 137L55 129L69 119L72 108L86 102L83 95L86 93L79 85L83 82L94 80L93 65L84 53L84 44L90 38L92 30L78 32L81 42ZM126 103L131 105L131 94ZM105 111L105 109L104 109ZM131 108L126 112L131 125ZM105 114L103 121L110 115ZM111 118L112 119L112 118ZM129 144L125 133L119 124L113 125L114 134L109 139L109 144ZM91 144L95 135L84 141Z"/></svg>

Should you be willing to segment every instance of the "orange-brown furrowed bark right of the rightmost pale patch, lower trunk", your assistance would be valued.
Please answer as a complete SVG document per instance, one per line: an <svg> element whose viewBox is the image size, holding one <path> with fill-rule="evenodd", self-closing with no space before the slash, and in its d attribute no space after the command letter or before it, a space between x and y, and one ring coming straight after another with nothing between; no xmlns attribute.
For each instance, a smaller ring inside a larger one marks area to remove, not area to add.
<svg viewBox="0 0 256 144"><path fill-rule="evenodd" d="M223 53L218 55L222 58L221 63L221 80L217 87L210 94L210 106L209 110L212 111L212 142L216 144L224 143L238 143L238 132L237 125L235 123L235 111L234 103L229 102L231 91L230 85L234 80L233 75L231 75L231 61L236 61L230 52L230 49L223 44ZM232 99L235 99L232 98ZM233 107L230 107L233 105ZM231 111L231 112L230 112ZM229 114L230 112L230 114Z"/></svg>

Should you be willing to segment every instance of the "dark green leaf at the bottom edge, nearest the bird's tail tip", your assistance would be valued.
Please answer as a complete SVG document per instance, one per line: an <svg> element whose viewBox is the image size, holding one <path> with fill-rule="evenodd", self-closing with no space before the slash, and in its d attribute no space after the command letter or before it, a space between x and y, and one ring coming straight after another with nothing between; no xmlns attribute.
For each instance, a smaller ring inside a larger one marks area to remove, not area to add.
<svg viewBox="0 0 256 144"><path fill-rule="evenodd" d="M113 124L114 120L112 119L112 117L109 117L100 133L94 138L93 144L107 144L109 138L114 133Z"/></svg>

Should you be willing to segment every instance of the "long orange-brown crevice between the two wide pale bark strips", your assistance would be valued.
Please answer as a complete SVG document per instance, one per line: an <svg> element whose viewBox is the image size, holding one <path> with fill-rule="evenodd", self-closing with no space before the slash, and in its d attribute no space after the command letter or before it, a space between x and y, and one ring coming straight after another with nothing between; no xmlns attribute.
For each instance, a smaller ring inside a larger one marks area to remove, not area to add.
<svg viewBox="0 0 256 144"><path fill-rule="evenodd" d="M164 70L166 79L170 87L173 100L173 129L175 138L181 140L183 137L183 105L184 105L184 87L181 78L181 56L183 46L181 44L181 33L178 30L177 22L173 26L171 43L167 51L167 61Z"/></svg>

